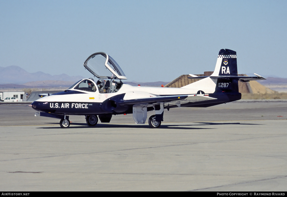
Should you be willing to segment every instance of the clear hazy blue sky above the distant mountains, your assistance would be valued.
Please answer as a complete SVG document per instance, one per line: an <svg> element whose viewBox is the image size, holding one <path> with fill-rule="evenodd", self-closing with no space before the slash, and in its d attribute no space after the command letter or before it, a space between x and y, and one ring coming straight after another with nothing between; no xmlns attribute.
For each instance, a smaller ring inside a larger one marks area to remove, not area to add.
<svg viewBox="0 0 287 197"><path fill-rule="evenodd" d="M108 53L127 81L171 81L213 71L220 49L239 74L287 78L287 1L0 0L0 66L92 77Z"/></svg>

